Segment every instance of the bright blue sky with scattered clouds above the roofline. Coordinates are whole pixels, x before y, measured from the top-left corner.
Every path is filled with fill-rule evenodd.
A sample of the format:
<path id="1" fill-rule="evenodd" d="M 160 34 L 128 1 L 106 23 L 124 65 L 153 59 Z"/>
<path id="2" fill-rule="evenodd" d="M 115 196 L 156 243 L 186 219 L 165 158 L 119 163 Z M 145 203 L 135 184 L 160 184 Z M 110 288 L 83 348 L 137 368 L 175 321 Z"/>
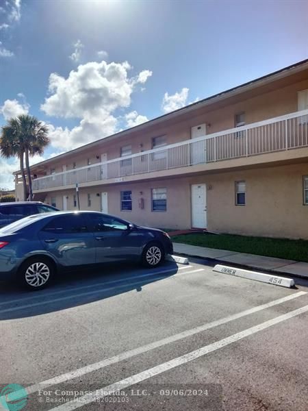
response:
<path id="1" fill-rule="evenodd" d="M 308 0 L 0 0 L 0 127 L 47 123 L 35 164 L 306 58 Z"/>

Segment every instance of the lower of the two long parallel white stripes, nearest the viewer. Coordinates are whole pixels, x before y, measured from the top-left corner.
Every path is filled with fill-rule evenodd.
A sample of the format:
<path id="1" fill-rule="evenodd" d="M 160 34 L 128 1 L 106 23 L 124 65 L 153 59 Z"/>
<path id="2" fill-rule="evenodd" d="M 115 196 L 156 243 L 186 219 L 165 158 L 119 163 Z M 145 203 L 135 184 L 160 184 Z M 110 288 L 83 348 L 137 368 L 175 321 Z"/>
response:
<path id="1" fill-rule="evenodd" d="M 124 388 L 132 386 L 133 384 L 138 384 L 138 382 L 142 382 L 145 379 L 149 379 L 151 377 L 154 377 L 155 375 L 165 373 L 166 371 L 174 369 L 175 367 L 186 364 L 190 361 L 196 360 L 196 358 L 203 357 L 207 355 L 208 353 L 216 351 L 217 349 L 220 349 L 222 347 L 227 347 L 227 345 L 235 343 L 238 340 L 242 340 L 242 338 L 252 336 L 253 334 L 260 332 L 263 329 L 272 327 L 273 325 L 277 325 L 281 323 L 282 321 L 292 319 L 294 316 L 298 316 L 300 314 L 303 314 L 304 312 L 308 312 L 308 306 L 298 308 L 297 310 L 294 310 L 291 312 L 287 312 L 287 314 L 283 314 L 274 319 L 265 321 L 264 323 L 255 325 L 255 327 L 250 327 L 250 328 L 244 329 L 244 331 L 233 334 L 232 336 L 229 336 L 227 338 L 222 338 L 222 340 L 216 341 L 216 343 L 205 345 L 204 347 L 196 349 L 195 351 L 191 351 L 190 353 L 187 353 L 184 356 L 174 358 L 173 360 L 170 360 L 167 362 L 163 362 L 162 364 L 153 366 L 153 368 L 151 369 L 147 369 L 145 371 L 142 371 L 141 373 L 132 375 L 131 377 L 121 379 L 120 381 L 115 382 L 114 384 L 105 386 L 97 390 L 92 395 L 84 395 L 82 397 L 78 397 L 78 402 L 70 401 L 68 403 L 64 403 L 61 406 L 52 408 L 50 411 L 76 410 L 77 408 L 85 406 L 88 403 L 92 403 L 93 401 L 97 399 L 106 397 L 107 395 L 111 395 L 116 390 L 123 390 Z"/>

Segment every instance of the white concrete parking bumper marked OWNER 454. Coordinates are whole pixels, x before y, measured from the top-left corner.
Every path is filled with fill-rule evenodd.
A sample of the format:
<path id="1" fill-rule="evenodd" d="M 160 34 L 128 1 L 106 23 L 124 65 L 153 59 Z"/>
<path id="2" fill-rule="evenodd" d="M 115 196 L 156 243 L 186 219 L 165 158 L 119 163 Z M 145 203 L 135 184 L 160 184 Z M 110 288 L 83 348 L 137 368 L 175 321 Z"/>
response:
<path id="1" fill-rule="evenodd" d="M 259 273 L 258 271 L 243 270 L 236 267 L 224 266 L 220 264 L 216 264 L 213 271 L 217 271 L 218 273 L 223 274 L 235 275 L 235 277 L 254 279 L 255 281 L 265 282 L 267 284 L 273 284 L 275 286 L 287 288 L 294 286 L 294 279 L 292 278 L 278 277 L 277 275 Z"/>

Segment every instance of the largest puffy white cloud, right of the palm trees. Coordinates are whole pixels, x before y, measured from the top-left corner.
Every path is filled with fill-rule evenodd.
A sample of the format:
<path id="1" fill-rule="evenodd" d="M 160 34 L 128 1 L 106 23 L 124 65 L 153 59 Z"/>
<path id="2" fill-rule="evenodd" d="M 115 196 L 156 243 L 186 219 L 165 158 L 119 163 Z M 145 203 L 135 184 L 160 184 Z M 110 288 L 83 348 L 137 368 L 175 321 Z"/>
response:
<path id="1" fill-rule="evenodd" d="M 73 149 L 114 134 L 118 120 L 113 113 L 129 107 L 136 85 L 149 77 L 142 75 L 143 72 L 129 77 L 130 69 L 128 62 L 107 64 L 102 61 L 80 64 L 67 78 L 51 73 L 51 95 L 45 99 L 41 110 L 49 116 L 81 120 L 73 129 L 51 125 L 51 145 L 57 149 Z M 135 118 L 129 117 L 127 122 L 140 124 L 146 120 L 136 113 Z"/>

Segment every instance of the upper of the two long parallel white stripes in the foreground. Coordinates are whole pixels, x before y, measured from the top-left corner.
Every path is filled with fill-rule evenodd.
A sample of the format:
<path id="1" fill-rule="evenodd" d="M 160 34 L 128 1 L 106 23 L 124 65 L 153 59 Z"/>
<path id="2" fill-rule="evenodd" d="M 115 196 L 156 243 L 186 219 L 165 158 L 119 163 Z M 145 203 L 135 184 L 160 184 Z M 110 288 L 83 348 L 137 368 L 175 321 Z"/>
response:
<path id="1" fill-rule="evenodd" d="M 151 351 L 152 349 L 163 347 L 164 345 L 168 345 L 170 343 L 175 343 L 175 341 L 182 340 L 183 338 L 193 336 L 194 334 L 198 334 L 199 332 L 203 332 L 207 329 L 217 327 L 218 325 L 226 324 L 226 323 L 229 323 L 230 321 L 240 319 L 243 316 L 247 316 L 249 314 L 253 314 L 255 312 L 265 310 L 266 308 L 277 306 L 278 304 L 285 303 L 286 301 L 290 301 L 298 297 L 302 297 L 303 295 L 307 295 L 307 292 L 305 291 L 296 292 L 294 294 L 287 295 L 286 297 L 282 297 L 277 300 L 270 301 L 269 303 L 262 304 L 261 306 L 249 308 L 248 310 L 244 310 L 242 312 L 238 312 L 237 314 L 232 314 L 222 319 L 212 321 L 211 323 L 205 323 L 203 325 L 200 325 L 199 327 L 188 329 L 184 332 L 180 332 L 179 334 L 175 334 L 173 336 L 163 338 L 162 340 L 157 340 L 153 343 L 143 345 L 142 347 L 138 347 L 136 349 L 125 351 L 124 353 L 120 353 L 117 356 L 106 358 L 105 360 L 81 367 L 80 369 L 77 369 L 75 371 L 70 371 L 68 373 L 58 375 L 57 377 L 47 379 L 41 382 L 40 384 L 34 384 L 32 386 L 28 386 L 27 392 L 31 394 L 31 393 L 35 393 L 40 388 L 52 386 L 55 384 L 60 384 L 62 382 L 67 382 L 70 379 L 81 377 L 81 375 L 85 375 L 88 373 L 92 373 L 93 371 L 103 369 L 105 366 L 116 364 L 117 362 L 127 360 L 128 358 L 138 356 L 139 354 L 146 353 L 147 351 Z"/>

